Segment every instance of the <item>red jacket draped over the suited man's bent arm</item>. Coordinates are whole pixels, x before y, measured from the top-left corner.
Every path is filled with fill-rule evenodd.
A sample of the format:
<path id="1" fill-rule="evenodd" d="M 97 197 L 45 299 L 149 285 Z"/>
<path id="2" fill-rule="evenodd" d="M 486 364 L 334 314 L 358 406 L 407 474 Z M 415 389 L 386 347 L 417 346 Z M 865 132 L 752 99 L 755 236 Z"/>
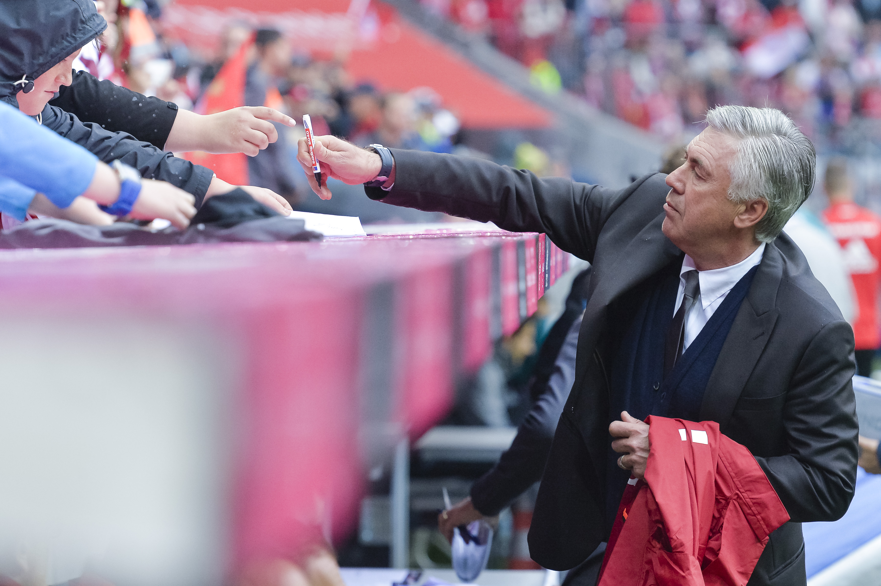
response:
<path id="1" fill-rule="evenodd" d="M 631 479 L 621 499 L 599 585 L 742 586 L 768 535 L 789 520 L 783 503 L 718 423 L 647 422 L 645 481 Z"/>

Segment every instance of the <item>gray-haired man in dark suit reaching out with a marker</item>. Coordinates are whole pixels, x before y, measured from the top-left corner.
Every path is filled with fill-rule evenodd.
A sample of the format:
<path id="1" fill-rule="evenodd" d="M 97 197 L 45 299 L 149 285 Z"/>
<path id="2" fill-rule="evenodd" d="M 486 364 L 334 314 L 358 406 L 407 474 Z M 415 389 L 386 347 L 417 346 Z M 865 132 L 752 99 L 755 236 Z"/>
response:
<path id="1" fill-rule="evenodd" d="M 575 382 L 529 530 L 534 560 L 574 568 L 608 538 L 627 479 L 645 473 L 641 420 L 652 414 L 717 421 L 751 451 L 791 521 L 750 584 L 806 583 L 801 524 L 840 518 L 854 494 L 854 333 L 782 232 L 811 194 L 816 159 L 785 114 L 715 107 L 682 166 L 620 190 L 478 158 L 315 143 L 322 172 L 366 182 L 371 199 L 544 232 L 592 264 Z M 303 141 L 298 158 L 328 199 Z"/>

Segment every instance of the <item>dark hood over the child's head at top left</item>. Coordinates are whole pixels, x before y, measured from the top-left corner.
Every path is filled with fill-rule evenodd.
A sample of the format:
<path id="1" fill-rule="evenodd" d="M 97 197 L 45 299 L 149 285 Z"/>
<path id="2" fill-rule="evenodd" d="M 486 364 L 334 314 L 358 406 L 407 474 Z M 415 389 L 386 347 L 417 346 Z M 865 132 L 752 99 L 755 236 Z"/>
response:
<path id="1" fill-rule="evenodd" d="M 0 0 L 0 99 L 18 107 L 23 86 L 106 28 L 92 0 Z"/>

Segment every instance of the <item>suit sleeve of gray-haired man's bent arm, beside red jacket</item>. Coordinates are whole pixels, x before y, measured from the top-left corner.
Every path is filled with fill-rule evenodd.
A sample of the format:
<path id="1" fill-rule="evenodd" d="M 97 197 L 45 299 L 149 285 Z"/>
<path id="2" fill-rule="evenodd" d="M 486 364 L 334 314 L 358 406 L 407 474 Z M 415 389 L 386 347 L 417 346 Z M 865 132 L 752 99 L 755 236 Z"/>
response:
<path id="1" fill-rule="evenodd" d="M 854 495 L 856 405 L 854 335 L 843 320 L 817 333 L 783 407 L 790 453 L 756 458 L 792 521 L 835 521 Z"/>

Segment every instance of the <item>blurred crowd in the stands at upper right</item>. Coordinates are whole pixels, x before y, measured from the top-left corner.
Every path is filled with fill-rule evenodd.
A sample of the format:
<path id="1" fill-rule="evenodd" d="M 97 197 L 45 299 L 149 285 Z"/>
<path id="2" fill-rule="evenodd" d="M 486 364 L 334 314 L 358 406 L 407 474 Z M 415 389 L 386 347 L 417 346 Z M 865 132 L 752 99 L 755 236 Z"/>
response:
<path id="1" fill-rule="evenodd" d="M 877 0 L 420 0 L 565 89 L 665 139 L 717 104 L 775 106 L 823 148 L 877 138 Z"/>

